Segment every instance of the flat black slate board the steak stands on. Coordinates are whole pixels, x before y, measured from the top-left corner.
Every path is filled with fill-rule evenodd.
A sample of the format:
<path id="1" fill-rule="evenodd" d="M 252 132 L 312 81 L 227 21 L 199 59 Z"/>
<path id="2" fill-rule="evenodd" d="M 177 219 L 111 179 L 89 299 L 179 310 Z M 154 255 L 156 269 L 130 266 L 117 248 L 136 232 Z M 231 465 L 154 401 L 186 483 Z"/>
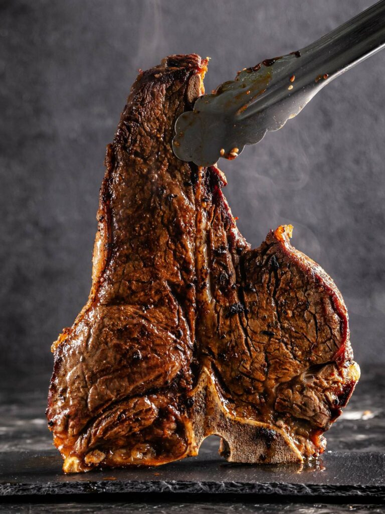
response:
<path id="1" fill-rule="evenodd" d="M 255 493 L 323 497 L 371 495 L 385 499 L 385 454 L 332 452 L 325 455 L 321 466 L 306 466 L 301 470 L 297 466 L 226 463 L 215 455 L 218 441 L 207 443 L 200 456 L 161 468 L 71 475 L 60 472 L 61 458 L 52 452 L 7 453 L 2 459 L 0 493 Z"/>

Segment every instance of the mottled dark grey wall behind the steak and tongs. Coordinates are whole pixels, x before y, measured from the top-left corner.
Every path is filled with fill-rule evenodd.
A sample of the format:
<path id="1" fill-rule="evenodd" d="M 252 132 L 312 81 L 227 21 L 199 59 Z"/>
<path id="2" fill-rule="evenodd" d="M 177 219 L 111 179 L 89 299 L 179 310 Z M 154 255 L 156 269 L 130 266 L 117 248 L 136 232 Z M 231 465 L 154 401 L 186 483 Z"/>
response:
<path id="1" fill-rule="evenodd" d="M 197 52 L 210 90 L 371 3 L 0 1 L 0 371 L 50 370 L 51 342 L 87 299 L 105 145 L 138 68 Z M 294 246 L 334 278 L 359 362 L 385 360 L 384 65 L 382 52 L 220 161 L 247 239 L 292 223 Z"/>

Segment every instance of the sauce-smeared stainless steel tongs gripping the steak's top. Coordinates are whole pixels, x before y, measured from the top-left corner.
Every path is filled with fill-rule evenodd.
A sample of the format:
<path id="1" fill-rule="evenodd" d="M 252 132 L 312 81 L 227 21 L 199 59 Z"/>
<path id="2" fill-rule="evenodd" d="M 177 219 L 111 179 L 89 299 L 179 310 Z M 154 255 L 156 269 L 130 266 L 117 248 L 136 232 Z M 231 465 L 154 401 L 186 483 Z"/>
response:
<path id="1" fill-rule="evenodd" d="M 240 71 L 234 81 L 203 95 L 175 125 L 177 157 L 211 166 L 233 159 L 294 118 L 316 93 L 385 46 L 381 0 L 301 50 Z"/>

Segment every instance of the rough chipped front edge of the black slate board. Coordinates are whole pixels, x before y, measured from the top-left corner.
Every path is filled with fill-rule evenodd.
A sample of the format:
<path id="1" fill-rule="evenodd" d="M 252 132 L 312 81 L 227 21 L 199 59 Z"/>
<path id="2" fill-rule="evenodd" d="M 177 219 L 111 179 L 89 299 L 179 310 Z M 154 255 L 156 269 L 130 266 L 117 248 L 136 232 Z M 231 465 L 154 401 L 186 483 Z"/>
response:
<path id="1" fill-rule="evenodd" d="M 0 483 L 0 496 L 89 493 L 278 494 L 282 496 L 372 497 L 385 500 L 385 486 L 187 481 Z"/>

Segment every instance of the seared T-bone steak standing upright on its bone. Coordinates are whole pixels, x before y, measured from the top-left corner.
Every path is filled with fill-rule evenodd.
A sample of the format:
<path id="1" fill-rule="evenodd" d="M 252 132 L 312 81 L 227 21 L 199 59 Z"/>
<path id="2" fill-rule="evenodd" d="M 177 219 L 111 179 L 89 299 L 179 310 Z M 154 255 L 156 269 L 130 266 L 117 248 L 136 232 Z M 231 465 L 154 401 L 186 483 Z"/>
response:
<path id="1" fill-rule="evenodd" d="M 141 72 L 107 147 L 90 296 L 52 347 L 65 472 L 157 466 L 210 434 L 228 461 L 300 463 L 359 378 L 340 292 L 292 227 L 252 250 L 223 173 L 172 152 L 206 66 L 192 54 Z"/>

